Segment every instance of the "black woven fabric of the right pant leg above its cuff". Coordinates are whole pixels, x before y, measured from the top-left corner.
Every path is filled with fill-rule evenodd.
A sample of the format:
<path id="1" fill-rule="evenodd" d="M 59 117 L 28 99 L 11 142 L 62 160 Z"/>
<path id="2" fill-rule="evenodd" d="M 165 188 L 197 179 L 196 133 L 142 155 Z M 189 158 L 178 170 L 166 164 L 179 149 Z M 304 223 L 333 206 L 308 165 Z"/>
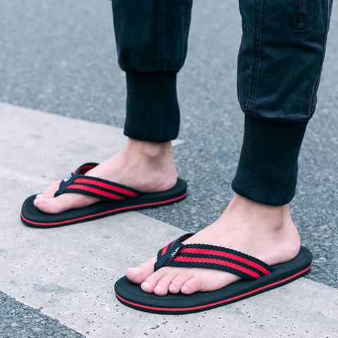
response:
<path id="1" fill-rule="evenodd" d="M 332 0 L 239 0 L 244 113 L 293 122 L 315 111 Z"/>

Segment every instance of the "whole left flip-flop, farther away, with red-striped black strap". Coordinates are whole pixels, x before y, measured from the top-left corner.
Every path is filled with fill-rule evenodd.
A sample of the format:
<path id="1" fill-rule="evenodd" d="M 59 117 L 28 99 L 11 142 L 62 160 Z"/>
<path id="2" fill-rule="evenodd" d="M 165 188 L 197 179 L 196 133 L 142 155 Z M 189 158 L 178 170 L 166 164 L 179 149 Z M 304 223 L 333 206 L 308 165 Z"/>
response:
<path id="1" fill-rule="evenodd" d="M 21 219 L 30 227 L 62 227 L 74 223 L 96 220 L 115 213 L 165 206 L 181 201 L 187 195 L 187 182 L 177 178 L 175 187 L 165 192 L 143 194 L 122 184 L 101 180 L 100 178 L 84 175 L 94 168 L 97 163 L 85 163 L 65 177 L 55 196 L 67 192 L 76 192 L 94 196 L 101 201 L 85 208 L 71 209 L 51 215 L 39 211 L 33 204 L 35 196 L 28 197 L 23 203 Z"/>

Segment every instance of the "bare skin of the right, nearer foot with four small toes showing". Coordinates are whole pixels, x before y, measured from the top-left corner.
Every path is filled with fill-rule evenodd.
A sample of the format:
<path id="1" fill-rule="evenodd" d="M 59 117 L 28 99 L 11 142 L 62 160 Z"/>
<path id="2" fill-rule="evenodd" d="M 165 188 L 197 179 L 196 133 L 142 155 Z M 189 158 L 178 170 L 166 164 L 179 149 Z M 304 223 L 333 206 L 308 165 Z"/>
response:
<path id="1" fill-rule="evenodd" d="M 300 248 L 299 234 L 292 222 L 289 205 L 265 206 L 238 194 L 221 217 L 209 227 L 187 239 L 185 244 L 213 244 L 241 251 L 269 265 L 284 263 L 296 257 Z M 161 249 L 161 248 L 158 248 Z M 215 291 L 240 278 L 231 273 L 204 268 L 166 266 L 154 273 L 156 257 L 126 275 L 141 284 L 144 292 L 164 296 L 168 292 L 192 294 Z"/>

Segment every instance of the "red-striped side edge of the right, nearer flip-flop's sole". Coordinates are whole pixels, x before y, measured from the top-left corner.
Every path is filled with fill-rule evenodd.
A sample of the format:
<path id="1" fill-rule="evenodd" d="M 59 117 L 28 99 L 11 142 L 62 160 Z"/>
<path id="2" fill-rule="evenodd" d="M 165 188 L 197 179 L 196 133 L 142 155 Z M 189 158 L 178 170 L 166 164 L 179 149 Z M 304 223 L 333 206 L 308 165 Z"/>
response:
<path id="1" fill-rule="evenodd" d="M 240 294 L 239 296 L 234 296 L 230 299 L 224 299 L 223 301 L 217 301 L 215 303 L 210 303 L 208 305 L 202 305 L 202 306 L 195 306 L 195 307 L 192 307 L 192 308 L 155 308 L 155 307 L 152 307 L 152 306 L 145 306 L 145 305 L 140 305 L 140 304 L 137 304 L 137 303 L 132 303 L 131 301 L 126 301 L 125 299 L 123 299 L 122 297 L 118 296 L 118 294 L 116 294 L 115 292 L 115 296 L 118 297 L 118 299 L 120 299 L 121 301 L 123 301 L 123 303 L 128 303 L 132 306 L 137 306 L 139 308 L 148 308 L 149 310 L 157 310 L 157 311 L 194 311 L 194 310 L 200 310 L 200 309 L 204 309 L 204 308 L 209 308 L 211 306 L 217 306 L 217 305 L 220 305 L 220 304 L 223 304 L 223 303 L 228 303 L 229 301 L 234 301 L 236 299 L 241 299 L 241 298 L 244 298 L 245 296 L 249 296 L 250 294 L 255 294 L 256 292 L 260 292 L 264 289 L 268 289 L 269 287 L 274 287 L 275 285 L 278 285 L 278 284 L 282 284 L 283 282 L 287 282 L 288 280 L 292 280 L 293 278 L 303 274 L 303 273 L 306 273 L 306 271 L 310 270 L 311 268 L 311 265 L 304 269 L 303 271 L 301 271 L 300 273 L 296 273 L 295 275 L 292 275 L 291 277 L 287 277 L 285 278 L 284 280 L 280 280 L 279 282 L 275 282 L 273 284 L 269 284 L 269 285 L 265 285 L 265 287 L 260 287 L 256 290 L 253 290 L 251 292 L 246 292 L 245 294 Z"/>

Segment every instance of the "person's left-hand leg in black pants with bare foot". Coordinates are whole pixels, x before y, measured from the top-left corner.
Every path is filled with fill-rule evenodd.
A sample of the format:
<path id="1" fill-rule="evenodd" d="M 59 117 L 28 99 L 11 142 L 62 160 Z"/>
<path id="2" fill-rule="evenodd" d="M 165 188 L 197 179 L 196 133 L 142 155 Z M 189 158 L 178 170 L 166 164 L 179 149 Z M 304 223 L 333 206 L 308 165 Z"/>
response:
<path id="1" fill-rule="evenodd" d="M 127 74 L 126 148 L 86 175 L 161 192 L 177 181 L 171 140 L 178 134 L 176 74 L 187 54 L 191 0 L 113 0 L 118 62 Z M 175 32 L 175 34 L 173 33 Z M 54 198 L 60 181 L 37 195 L 45 213 L 83 208 L 98 199 L 82 194 Z"/>

